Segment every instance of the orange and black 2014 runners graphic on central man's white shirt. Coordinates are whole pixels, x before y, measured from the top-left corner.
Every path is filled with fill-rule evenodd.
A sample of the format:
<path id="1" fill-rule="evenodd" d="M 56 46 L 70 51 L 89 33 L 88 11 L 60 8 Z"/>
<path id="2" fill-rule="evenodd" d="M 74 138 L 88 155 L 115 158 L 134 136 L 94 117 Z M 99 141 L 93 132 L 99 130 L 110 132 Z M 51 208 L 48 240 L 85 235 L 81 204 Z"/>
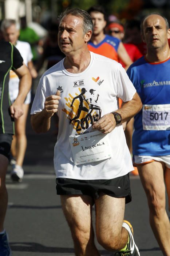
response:
<path id="1" fill-rule="evenodd" d="M 99 99 L 96 90 L 90 89 L 89 92 L 85 88 L 78 88 L 78 90 L 75 97 L 69 93 L 69 97 L 65 98 L 67 108 L 62 110 L 70 119 L 70 125 L 73 125 L 76 132 L 80 134 L 82 130 L 88 129 L 89 124 L 92 125 L 99 120 L 102 110 L 100 106 L 95 105 Z"/>

